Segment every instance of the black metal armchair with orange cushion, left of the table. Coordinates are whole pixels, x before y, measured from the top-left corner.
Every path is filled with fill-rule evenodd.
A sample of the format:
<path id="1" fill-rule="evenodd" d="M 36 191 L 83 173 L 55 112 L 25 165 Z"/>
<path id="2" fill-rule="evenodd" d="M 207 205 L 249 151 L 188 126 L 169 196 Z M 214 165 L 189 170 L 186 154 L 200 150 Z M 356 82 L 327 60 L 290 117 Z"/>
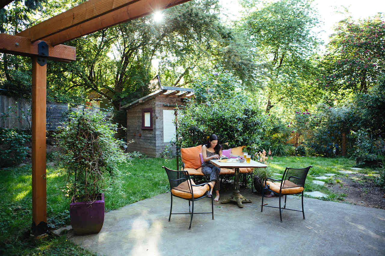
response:
<path id="1" fill-rule="evenodd" d="M 209 196 L 212 185 L 211 183 L 202 183 L 196 185 L 193 180 L 191 180 L 190 175 L 187 171 L 174 171 L 169 168 L 162 166 L 166 170 L 171 189 L 171 206 L 170 206 L 170 215 L 169 221 L 171 219 L 171 214 L 190 214 L 190 226 L 192 223 L 192 217 L 194 215 L 194 201 L 197 201 L 201 198 Z M 189 212 L 188 213 L 172 213 L 172 196 L 176 196 L 189 201 Z M 192 202 L 192 208 L 190 207 Z M 211 213 L 214 219 L 214 197 L 211 196 Z M 199 214 L 199 213 L 195 213 Z"/>

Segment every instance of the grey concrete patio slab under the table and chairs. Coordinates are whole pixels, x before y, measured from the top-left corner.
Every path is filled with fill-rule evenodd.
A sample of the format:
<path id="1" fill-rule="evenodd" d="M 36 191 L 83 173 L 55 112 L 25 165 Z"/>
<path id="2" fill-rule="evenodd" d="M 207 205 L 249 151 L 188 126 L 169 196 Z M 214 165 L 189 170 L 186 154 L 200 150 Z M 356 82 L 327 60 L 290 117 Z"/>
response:
<path id="1" fill-rule="evenodd" d="M 225 198 L 231 192 L 222 193 Z M 98 255 L 384 255 L 385 211 L 352 204 L 303 198 L 301 212 L 264 207 L 261 196 L 241 193 L 253 203 L 214 203 L 211 214 L 172 215 L 170 194 L 160 194 L 105 214 L 99 234 L 70 240 Z M 108 196 L 108 195 L 107 195 Z M 282 199 L 283 202 L 284 199 Z M 264 198 L 278 206 L 278 197 Z M 286 207 L 301 209 L 301 199 L 288 197 Z M 210 211 L 211 200 L 196 201 L 194 211 Z M 174 198 L 173 211 L 188 211 L 185 200 Z M 285 249 L 279 249 L 285 248 Z"/>

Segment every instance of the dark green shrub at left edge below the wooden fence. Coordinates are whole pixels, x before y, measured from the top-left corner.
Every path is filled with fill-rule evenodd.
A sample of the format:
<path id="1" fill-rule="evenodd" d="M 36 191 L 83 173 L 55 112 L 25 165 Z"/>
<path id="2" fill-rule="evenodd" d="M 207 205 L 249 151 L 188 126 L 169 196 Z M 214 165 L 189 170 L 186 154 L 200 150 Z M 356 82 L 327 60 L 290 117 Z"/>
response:
<path id="1" fill-rule="evenodd" d="M 30 138 L 21 131 L 0 128 L 0 167 L 14 166 L 24 160 L 28 149 L 24 143 Z"/>

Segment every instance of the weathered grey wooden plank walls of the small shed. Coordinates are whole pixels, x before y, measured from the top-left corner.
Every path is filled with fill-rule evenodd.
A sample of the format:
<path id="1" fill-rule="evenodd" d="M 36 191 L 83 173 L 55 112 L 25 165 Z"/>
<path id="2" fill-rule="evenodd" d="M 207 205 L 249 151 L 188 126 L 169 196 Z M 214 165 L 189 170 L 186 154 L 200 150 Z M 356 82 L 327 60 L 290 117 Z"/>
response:
<path id="1" fill-rule="evenodd" d="M 163 110 L 173 110 L 169 105 L 182 105 L 176 95 L 158 95 L 156 98 L 127 110 L 127 141 L 134 140 L 127 146 L 128 152 L 139 151 L 151 157 L 159 157 L 169 143 L 163 143 Z M 142 108 L 152 108 L 153 130 L 142 130 Z M 139 136 L 141 134 L 141 136 Z M 176 151 L 175 146 L 172 151 Z"/>

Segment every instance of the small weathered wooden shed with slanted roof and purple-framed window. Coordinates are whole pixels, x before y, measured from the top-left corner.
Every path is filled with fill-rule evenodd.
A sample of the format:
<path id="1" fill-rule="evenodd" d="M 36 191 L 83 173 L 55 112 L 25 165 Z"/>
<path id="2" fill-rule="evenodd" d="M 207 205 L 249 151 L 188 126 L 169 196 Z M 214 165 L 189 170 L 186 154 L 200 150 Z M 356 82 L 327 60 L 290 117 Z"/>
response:
<path id="1" fill-rule="evenodd" d="M 123 106 L 127 110 L 127 152 L 139 151 L 159 157 L 172 139 L 175 140 L 176 106 L 194 95 L 191 88 L 160 86 L 160 89 Z M 172 148 L 175 152 L 175 146 Z"/>

